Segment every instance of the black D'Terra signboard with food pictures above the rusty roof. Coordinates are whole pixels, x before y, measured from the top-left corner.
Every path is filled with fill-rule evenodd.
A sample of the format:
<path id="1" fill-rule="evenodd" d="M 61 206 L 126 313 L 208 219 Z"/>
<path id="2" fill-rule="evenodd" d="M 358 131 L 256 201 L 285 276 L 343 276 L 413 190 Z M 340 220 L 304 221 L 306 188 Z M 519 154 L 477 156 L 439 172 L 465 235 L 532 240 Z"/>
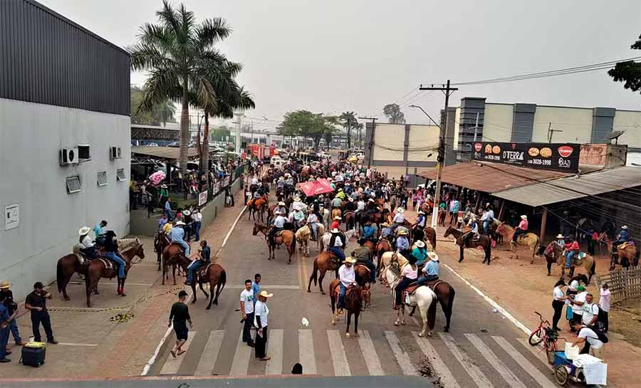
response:
<path id="1" fill-rule="evenodd" d="M 578 144 L 474 142 L 472 148 L 474 160 L 534 169 L 578 172 Z"/>

